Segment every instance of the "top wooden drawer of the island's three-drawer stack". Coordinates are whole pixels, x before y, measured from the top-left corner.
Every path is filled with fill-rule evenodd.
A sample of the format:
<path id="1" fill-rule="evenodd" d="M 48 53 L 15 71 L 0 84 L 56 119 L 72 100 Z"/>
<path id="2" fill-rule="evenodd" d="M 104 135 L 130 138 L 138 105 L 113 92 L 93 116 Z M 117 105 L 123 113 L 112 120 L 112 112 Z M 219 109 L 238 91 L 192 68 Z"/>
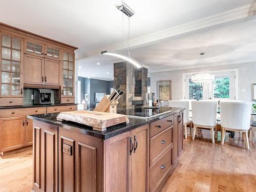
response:
<path id="1" fill-rule="evenodd" d="M 174 124 L 174 116 L 170 115 L 153 123 L 150 123 L 150 137 L 160 133 Z"/>

